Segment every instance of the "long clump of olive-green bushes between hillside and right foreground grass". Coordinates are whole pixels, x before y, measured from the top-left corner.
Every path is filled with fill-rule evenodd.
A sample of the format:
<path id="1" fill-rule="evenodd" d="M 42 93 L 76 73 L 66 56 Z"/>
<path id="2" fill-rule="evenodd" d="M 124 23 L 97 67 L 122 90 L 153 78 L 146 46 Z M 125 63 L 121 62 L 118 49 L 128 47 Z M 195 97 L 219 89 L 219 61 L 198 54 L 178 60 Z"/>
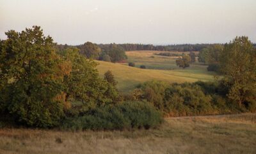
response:
<path id="1" fill-rule="evenodd" d="M 148 81 L 131 92 L 131 100 L 147 101 L 166 116 L 214 115 L 255 111 L 255 104 L 239 108 L 227 98 L 228 85 L 220 82 L 165 83 Z"/>

